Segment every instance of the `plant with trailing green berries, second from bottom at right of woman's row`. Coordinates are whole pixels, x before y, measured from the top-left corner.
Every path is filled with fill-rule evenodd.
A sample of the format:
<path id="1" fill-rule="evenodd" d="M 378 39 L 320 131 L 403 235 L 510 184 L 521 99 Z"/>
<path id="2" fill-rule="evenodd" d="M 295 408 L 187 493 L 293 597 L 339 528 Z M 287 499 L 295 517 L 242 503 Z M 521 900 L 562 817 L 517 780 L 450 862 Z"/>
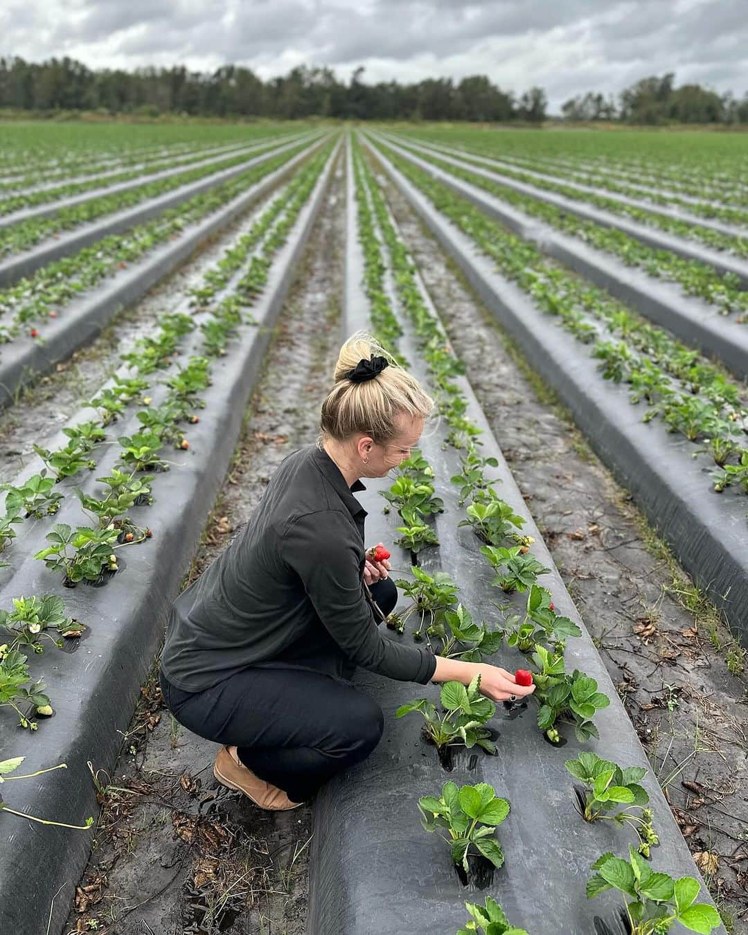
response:
<path id="1" fill-rule="evenodd" d="M 650 848 L 659 842 L 652 824 L 654 813 L 649 795 L 640 784 L 647 770 L 642 767 L 621 767 L 597 754 L 584 751 L 576 759 L 569 759 L 566 768 L 583 786 L 574 786 L 576 809 L 584 821 L 607 820 L 617 825 L 629 825 L 639 838 L 639 853 L 649 857 Z M 619 805 L 626 808 L 618 810 Z M 606 814 L 617 810 L 612 814 Z M 639 815 L 634 812 L 640 812 Z"/>

